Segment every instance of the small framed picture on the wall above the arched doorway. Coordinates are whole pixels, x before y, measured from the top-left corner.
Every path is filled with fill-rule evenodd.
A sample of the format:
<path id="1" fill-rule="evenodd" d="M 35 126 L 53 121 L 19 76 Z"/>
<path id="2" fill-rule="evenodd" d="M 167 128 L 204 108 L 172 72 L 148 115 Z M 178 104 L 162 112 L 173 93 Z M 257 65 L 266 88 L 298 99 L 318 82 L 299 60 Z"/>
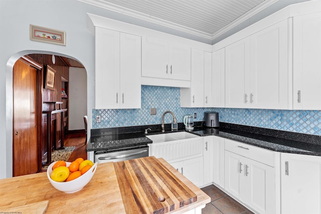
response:
<path id="1" fill-rule="evenodd" d="M 30 25 L 30 40 L 66 46 L 66 33 L 50 28 Z"/>

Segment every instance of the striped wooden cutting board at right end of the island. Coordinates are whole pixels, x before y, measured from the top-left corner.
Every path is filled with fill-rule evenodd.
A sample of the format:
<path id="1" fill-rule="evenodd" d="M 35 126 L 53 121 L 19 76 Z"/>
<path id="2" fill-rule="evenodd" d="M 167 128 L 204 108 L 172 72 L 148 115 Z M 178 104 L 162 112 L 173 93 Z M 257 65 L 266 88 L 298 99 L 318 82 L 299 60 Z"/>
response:
<path id="1" fill-rule="evenodd" d="M 197 201 L 197 195 L 155 157 L 114 162 L 127 214 L 166 213 Z"/>

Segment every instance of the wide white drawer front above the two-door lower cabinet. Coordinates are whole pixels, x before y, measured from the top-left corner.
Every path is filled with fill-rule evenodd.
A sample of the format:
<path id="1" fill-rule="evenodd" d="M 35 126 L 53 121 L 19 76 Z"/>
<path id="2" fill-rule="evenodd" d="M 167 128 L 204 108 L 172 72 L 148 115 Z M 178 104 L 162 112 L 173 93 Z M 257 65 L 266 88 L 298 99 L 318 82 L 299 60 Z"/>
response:
<path id="1" fill-rule="evenodd" d="M 229 139 L 225 139 L 225 150 L 274 167 L 273 151 Z"/>

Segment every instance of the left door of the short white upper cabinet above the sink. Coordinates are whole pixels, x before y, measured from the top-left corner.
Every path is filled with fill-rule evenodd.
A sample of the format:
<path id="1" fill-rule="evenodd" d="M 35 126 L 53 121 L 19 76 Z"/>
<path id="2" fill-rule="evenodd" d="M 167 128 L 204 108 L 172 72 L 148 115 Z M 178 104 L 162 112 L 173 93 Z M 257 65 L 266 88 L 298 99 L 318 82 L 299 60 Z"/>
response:
<path id="1" fill-rule="evenodd" d="M 168 78 L 168 43 L 153 38 L 144 38 L 142 43 L 141 76 Z"/>

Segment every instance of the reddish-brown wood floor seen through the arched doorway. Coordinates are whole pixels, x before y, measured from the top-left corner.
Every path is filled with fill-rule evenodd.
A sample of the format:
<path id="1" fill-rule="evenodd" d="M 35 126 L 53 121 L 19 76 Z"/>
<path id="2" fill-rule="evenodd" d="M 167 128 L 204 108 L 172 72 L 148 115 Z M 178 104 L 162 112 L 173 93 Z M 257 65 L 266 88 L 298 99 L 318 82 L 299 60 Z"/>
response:
<path id="1" fill-rule="evenodd" d="M 65 146 L 76 146 L 73 153 L 70 155 L 68 161 L 72 162 L 78 157 L 87 159 L 87 144 L 85 145 L 86 135 L 85 134 L 68 134 L 64 140 Z"/>

